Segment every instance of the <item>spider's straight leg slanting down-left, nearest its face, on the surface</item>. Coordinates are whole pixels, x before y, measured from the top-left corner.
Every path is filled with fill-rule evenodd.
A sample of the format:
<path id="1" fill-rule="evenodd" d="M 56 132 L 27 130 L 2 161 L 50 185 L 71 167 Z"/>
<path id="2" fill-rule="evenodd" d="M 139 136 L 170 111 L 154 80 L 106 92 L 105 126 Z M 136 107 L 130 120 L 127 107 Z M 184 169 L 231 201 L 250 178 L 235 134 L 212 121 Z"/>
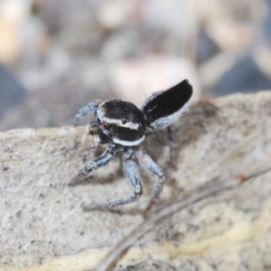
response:
<path id="1" fill-rule="evenodd" d="M 115 144 L 108 145 L 107 149 L 101 154 L 97 159 L 93 160 L 89 164 L 86 164 L 82 169 L 75 174 L 69 182 L 69 185 L 75 185 L 80 180 L 84 179 L 92 170 L 96 170 L 101 166 L 104 166 L 109 163 L 111 158 L 120 151 L 120 148 L 117 148 Z"/>

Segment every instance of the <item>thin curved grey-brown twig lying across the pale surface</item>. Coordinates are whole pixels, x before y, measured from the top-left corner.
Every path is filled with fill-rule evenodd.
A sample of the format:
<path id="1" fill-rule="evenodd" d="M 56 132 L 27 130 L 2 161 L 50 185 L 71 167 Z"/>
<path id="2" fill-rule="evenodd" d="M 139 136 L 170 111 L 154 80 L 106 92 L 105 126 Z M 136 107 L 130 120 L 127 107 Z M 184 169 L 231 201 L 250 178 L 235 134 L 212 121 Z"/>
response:
<path id="1" fill-rule="evenodd" d="M 184 192 L 182 195 L 177 198 L 175 201 L 170 202 L 164 205 L 163 208 L 156 210 L 152 217 L 147 218 L 142 224 L 140 224 L 136 229 L 132 230 L 125 238 L 123 238 L 105 257 L 100 261 L 98 266 L 96 266 L 95 271 L 111 271 L 115 266 L 117 266 L 117 262 L 126 255 L 128 249 L 133 246 L 135 241 L 138 238 L 141 238 L 151 229 L 164 220 L 173 216 L 179 210 L 184 209 L 187 206 L 192 205 L 195 202 L 204 200 L 210 196 L 214 196 L 218 192 L 222 192 L 225 190 L 232 190 L 244 181 L 248 181 L 256 178 L 259 175 L 265 174 L 271 171 L 271 167 L 266 168 L 263 171 L 253 173 L 248 175 L 246 180 L 220 180 L 219 177 L 210 180 L 209 182 L 205 182 L 202 185 L 199 185 L 193 188 L 189 192 Z"/>

